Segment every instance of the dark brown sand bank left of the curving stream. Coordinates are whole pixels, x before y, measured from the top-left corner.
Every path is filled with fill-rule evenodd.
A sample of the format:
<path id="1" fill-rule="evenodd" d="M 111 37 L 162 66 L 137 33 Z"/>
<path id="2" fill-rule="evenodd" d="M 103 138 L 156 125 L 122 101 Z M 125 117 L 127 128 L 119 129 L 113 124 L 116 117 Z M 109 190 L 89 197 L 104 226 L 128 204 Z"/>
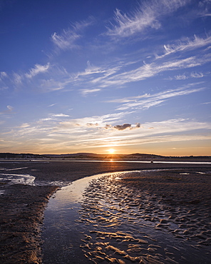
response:
<path id="1" fill-rule="evenodd" d="M 43 210 L 56 186 L 8 186 L 0 196 L 0 262 L 41 263 Z"/>

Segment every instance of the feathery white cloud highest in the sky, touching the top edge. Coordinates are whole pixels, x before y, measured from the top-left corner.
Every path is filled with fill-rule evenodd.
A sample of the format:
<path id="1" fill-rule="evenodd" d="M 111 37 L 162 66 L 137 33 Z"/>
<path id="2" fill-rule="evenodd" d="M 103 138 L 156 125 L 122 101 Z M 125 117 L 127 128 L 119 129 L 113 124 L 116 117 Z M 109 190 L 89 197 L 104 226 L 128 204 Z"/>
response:
<path id="1" fill-rule="evenodd" d="M 181 6 L 185 6 L 188 0 L 154 0 L 142 1 L 140 6 L 132 14 L 123 14 L 120 10 L 115 11 L 115 24 L 108 28 L 107 34 L 119 38 L 132 36 L 146 29 L 159 29 L 160 18 L 171 14 Z"/>

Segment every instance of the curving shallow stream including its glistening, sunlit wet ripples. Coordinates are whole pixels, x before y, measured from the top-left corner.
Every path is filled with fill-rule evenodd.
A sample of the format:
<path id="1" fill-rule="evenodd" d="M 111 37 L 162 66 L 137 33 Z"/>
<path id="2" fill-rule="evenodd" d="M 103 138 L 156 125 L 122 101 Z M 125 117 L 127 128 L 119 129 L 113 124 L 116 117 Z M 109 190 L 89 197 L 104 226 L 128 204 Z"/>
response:
<path id="1" fill-rule="evenodd" d="M 139 172 L 83 178 L 50 199 L 43 263 L 209 263 L 206 249 L 175 237 L 178 226 L 151 193 L 121 186 L 128 173 Z"/>

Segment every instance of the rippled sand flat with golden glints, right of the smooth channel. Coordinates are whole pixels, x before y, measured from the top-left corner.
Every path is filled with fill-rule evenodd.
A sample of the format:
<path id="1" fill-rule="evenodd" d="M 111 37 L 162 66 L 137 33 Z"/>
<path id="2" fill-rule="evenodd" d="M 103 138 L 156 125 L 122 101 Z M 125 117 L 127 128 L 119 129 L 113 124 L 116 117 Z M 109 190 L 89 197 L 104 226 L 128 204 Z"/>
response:
<path id="1" fill-rule="evenodd" d="M 92 263 L 210 263 L 210 182 L 206 169 L 92 181 L 78 220 L 87 225 L 84 255 Z"/>

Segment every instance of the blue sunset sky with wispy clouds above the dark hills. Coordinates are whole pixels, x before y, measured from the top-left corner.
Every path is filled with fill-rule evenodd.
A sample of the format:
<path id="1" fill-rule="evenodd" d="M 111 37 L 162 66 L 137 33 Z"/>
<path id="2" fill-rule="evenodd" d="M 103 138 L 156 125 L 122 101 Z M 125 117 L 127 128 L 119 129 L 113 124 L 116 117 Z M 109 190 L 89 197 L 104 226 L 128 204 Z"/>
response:
<path id="1" fill-rule="evenodd" d="M 211 155 L 211 0 L 0 0 L 0 152 Z"/>

